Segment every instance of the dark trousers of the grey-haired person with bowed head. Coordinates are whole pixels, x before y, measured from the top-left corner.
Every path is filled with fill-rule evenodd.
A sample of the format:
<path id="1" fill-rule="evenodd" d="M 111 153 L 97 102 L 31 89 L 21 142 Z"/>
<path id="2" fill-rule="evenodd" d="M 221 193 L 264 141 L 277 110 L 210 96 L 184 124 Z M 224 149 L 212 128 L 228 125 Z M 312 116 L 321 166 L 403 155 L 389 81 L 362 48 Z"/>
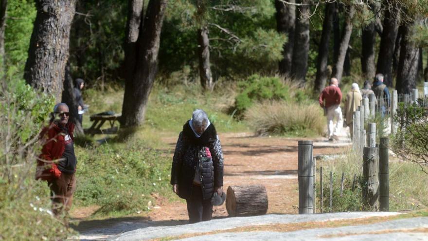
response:
<path id="1" fill-rule="evenodd" d="M 190 223 L 211 220 L 213 204 L 211 204 L 211 199 L 203 200 L 200 186 L 193 185 L 192 195 L 189 199 L 186 199 L 186 202 Z"/>

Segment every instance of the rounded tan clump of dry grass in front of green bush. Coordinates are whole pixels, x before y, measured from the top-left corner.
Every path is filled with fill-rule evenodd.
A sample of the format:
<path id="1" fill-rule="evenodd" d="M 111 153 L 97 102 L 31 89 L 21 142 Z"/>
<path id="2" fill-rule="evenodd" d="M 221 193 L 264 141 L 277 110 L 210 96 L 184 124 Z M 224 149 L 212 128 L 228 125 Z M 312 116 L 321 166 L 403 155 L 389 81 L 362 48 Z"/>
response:
<path id="1" fill-rule="evenodd" d="M 321 108 L 316 104 L 285 101 L 258 103 L 246 112 L 245 118 L 259 135 L 320 135 L 325 128 Z"/>

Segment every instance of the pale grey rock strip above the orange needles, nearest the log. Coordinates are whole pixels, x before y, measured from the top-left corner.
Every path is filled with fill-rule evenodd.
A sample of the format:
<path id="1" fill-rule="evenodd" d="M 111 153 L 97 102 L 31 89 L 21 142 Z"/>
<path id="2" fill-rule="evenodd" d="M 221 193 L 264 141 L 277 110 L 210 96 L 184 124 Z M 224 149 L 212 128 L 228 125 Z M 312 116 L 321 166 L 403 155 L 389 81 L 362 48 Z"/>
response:
<path id="1" fill-rule="evenodd" d="M 253 217 L 236 217 L 226 219 L 216 219 L 209 222 L 199 222 L 194 224 L 185 224 L 177 226 L 143 226 L 133 231 L 122 233 L 116 237 L 111 237 L 109 240 L 114 241 L 141 241 L 150 240 L 155 238 L 164 238 L 171 236 L 178 236 L 183 234 L 192 233 L 203 233 L 217 230 L 227 230 L 236 227 L 245 227 L 252 225 L 265 225 L 265 224 L 284 224 L 284 223 L 299 223 L 299 222 L 325 222 L 325 221 L 338 221 L 338 220 L 349 220 L 349 219 L 361 219 L 370 217 L 385 217 L 397 215 L 399 213 L 393 212 L 346 212 L 346 213 L 324 213 L 316 215 L 287 215 L 287 214 L 268 214 L 262 216 Z M 428 223 L 428 222 L 427 222 Z M 272 233 L 275 232 L 260 232 L 260 233 Z M 245 235 L 246 233 L 239 233 L 236 235 Z M 278 233 L 280 234 L 280 233 Z M 282 233 L 283 234 L 283 233 Z M 216 237 L 223 237 L 224 235 L 235 235 L 235 234 L 217 234 Z M 249 235 L 251 236 L 251 235 Z M 205 237 L 205 236 L 204 236 Z M 222 240 L 229 240 L 229 236 L 224 236 Z M 80 236 L 81 239 L 85 239 L 85 235 Z M 89 238 L 89 237 L 88 237 Z M 201 237 L 197 237 L 199 240 Z M 216 238 L 217 239 L 217 238 Z M 244 240 L 247 237 L 237 237 L 235 240 Z M 204 240 L 213 240 L 213 237 L 206 236 Z M 252 240 L 264 240 L 264 238 L 252 239 Z"/>

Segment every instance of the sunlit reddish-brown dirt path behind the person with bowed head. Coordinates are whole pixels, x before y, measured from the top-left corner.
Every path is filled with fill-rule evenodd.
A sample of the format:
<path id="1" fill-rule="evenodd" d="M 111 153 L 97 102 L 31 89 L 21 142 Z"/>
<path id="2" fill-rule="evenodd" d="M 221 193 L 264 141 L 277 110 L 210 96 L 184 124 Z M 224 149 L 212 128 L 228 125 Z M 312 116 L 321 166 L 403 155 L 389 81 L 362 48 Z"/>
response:
<path id="1" fill-rule="evenodd" d="M 267 189 L 267 213 L 296 214 L 298 212 L 297 141 L 302 138 L 254 137 L 250 133 L 220 134 L 225 167 L 224 190 L 229 185 L 265 185 Z M 177 137 L 163 137 L 171 149 Z M 337 154 L 348 147 L 345 141 L 331 143 L 316 138 L 314 156 Z M 158 199 L 157 209 L 149 220 L 187 220 L 184 202 L 168 203 Z M 214 207 L 214 217 L 227 217 L 226 206 Z"/>

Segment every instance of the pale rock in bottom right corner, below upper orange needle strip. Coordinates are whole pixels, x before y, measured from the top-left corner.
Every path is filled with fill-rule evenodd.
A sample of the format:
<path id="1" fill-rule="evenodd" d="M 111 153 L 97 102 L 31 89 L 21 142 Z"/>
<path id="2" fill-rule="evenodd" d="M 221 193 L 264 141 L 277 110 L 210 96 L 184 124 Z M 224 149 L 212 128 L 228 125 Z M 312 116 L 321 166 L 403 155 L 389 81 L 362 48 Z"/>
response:
<path id="1" fill-rule="evenodd" d="M 428 241 L 428 217 L 294 232 L 242 232 L 197 236 L 182 241 Z"/>

